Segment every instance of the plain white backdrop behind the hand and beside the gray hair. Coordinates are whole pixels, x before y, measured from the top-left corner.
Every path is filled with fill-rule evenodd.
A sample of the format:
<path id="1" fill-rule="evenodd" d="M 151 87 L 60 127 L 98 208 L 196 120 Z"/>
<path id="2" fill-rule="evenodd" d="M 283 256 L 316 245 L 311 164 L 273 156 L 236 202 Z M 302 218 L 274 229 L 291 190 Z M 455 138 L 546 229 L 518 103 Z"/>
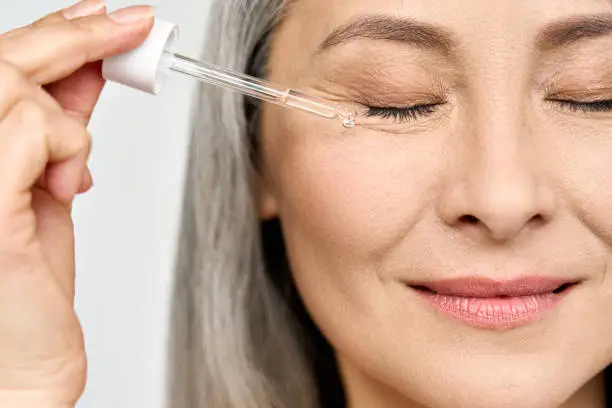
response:
<path id="1" fill-rule="evenodd" d="M 211 0 L 153 0 L 179 24 L 178 50 L 198 57 Z M 0 33 L 66 7 L 1 0 Z M 110 10 L 135 4 L 108 0 Z M 79 408 L 159 407 L 165 398 L 169 295 L 194 83 L 160 96 L 109 84 L 90 130 L 93 190 L 75 206 L 77 312 L 89 356 Z"/>

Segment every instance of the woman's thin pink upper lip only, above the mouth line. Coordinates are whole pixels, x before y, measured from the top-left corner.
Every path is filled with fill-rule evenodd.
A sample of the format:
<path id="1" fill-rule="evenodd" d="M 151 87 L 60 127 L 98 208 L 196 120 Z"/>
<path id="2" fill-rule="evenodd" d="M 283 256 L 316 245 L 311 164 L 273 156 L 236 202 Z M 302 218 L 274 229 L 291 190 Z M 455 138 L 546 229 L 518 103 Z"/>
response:
<path id="1" fill-rule="evenodd" d="M 497 280 L 488 277 L 461 277 L 436 281 L 408 282 L 416 289 L 429 289 L 440 295 L 457 297 L 518 297 L 562 291 L 578 280 L 522 276 Z"/>

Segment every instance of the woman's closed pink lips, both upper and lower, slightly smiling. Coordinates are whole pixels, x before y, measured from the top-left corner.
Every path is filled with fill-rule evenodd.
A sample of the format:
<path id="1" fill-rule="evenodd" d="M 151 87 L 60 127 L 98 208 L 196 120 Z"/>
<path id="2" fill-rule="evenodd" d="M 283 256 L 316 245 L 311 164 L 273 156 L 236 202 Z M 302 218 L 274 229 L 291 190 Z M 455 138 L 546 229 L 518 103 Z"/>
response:
<path id="1" fill-rule="evenodd" d="M 471 326 L 509 329 L 533 322 L 578 283 L 545 277 L 468 277 L 408 285 L 442 313 Z"/>

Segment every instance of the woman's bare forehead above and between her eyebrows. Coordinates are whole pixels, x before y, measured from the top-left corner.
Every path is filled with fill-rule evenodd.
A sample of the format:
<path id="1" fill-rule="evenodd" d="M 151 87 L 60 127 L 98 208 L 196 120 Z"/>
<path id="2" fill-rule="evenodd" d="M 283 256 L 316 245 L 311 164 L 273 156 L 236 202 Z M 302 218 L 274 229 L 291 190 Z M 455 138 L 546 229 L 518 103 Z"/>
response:
<path id="1" fill-rule="evenodd" d="M 552 21 L 610 11 L 612 0 L 288 0 L 277 38 L 296 54 L 314 52 L 338 27 L 378 15 L 442 27 L 469 47 L 501 37 L 528 41 Z"/>

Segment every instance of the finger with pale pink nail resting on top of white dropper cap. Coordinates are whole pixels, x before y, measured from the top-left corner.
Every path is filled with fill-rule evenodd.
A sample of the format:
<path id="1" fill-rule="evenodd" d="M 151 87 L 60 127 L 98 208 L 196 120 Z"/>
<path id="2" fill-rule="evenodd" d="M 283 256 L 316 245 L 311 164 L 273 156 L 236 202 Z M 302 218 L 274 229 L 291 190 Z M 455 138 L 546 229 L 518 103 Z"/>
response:
<path id="1" fill-rule="evenodd" d="M 32 27 L 0 39 L 0 59 L 45 85 L 64 78 L 89 62 L 136 48 L 153 27 L 154 9 L 132 6 Z"/>

